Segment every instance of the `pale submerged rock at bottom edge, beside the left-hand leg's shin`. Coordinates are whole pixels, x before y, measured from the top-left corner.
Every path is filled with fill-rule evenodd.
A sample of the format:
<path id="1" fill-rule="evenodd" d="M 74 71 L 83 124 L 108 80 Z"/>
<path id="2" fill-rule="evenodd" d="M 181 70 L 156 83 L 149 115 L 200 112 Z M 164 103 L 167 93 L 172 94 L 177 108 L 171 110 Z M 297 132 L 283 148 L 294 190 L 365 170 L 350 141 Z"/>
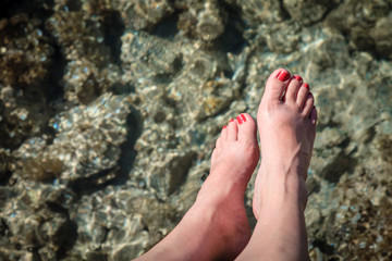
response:
<path id="1" fill-rule="evenodd" d="M 168 234 L 161 227 L 173 227 L 179 219 L 172 207 L 135 187 L 85 196 L 74 211 L 79 235 L 74 253 L 79 258 L 99 249 L 111 260 L 139 256 Z"/>

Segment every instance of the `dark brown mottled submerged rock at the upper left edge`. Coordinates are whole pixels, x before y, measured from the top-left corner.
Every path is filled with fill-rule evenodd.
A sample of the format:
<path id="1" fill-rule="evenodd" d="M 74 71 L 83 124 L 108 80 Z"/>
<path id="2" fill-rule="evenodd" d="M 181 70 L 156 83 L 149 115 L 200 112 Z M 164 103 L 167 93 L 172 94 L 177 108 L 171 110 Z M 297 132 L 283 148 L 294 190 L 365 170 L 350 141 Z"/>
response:
<path id="1" fill-rule="evenodd" d="M 41 21 L 27 13 L 0 20 L 0 83 L 32 85 L 49 72 L 53 48 L 39 28 Z"/>

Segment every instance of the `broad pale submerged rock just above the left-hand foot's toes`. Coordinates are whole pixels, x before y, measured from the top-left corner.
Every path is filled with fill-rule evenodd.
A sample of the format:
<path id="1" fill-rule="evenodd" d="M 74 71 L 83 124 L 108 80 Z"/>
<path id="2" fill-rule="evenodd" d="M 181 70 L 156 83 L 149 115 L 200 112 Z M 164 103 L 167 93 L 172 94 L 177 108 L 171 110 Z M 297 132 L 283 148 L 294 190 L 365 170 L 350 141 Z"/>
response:
<path id="1" fill-rule="evenodd" d="M 238 83 L 224 75 L 229 64 L 223 54 L 217 58 L 191 45 L 139 33 L 125 34 L 123 42 L 122 60 L 128 70 L 125 79 L 137 79 L 134 84 L 140 96 L 161 89 L 186 117 L 212 116 L 228 108 L 238 92 Z"/>

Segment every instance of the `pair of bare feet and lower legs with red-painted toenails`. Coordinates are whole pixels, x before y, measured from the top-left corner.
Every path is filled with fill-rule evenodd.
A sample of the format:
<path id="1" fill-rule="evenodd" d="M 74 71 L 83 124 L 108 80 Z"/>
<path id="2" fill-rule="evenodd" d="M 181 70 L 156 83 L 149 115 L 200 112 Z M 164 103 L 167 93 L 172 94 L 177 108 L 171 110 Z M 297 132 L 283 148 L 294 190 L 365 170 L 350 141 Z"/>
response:
<path id="1" fill-rule="evenodd" d="M 210 175 L 180 224 L 138 260 L 309 260 L 305 181 L 316 136 L 309 86 L 284 69 L 267 80 L 255 120 L 240 114 L 223 126 Z M 244 207 L 259 160 L 250 233 Z"/>

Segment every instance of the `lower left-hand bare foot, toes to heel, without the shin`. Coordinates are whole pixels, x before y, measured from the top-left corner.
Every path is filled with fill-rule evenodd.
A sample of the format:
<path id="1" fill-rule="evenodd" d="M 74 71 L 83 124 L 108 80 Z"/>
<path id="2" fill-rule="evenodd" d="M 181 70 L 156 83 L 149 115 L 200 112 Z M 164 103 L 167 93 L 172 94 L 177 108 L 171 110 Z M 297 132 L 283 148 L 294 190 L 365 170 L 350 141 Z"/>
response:
<path id="1" fill-rule="evenodd" d="M 222 128 L 211 156 L 210 175 L 192 208 L 199 213 L 213 211 L 216 232 L 209 236 L 221 247 L 220 258 L 233 260 L 250 238 L 244 194 L 260 157 L 256 130 L 256 122 L 247 113 Z"/>

